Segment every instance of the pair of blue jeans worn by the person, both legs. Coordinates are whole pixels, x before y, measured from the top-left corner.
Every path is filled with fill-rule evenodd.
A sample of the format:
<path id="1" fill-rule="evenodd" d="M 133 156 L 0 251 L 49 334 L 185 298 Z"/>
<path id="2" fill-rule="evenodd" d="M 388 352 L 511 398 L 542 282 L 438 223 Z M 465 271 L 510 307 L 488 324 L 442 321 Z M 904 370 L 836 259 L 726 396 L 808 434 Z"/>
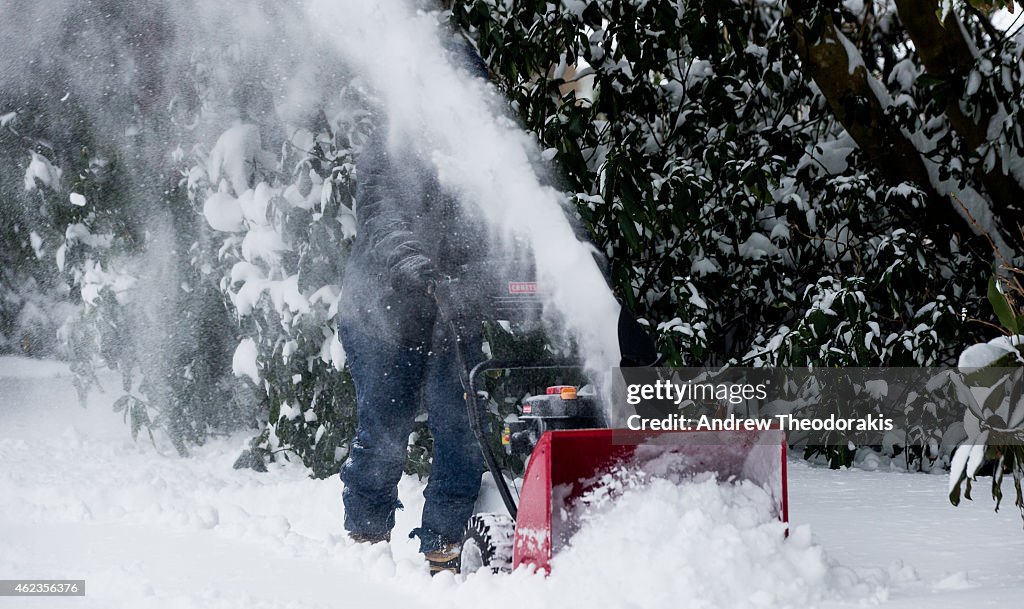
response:
<path id="1" fill-rule="evenodd" d="M 338 329 L 358 416 L 341 467 L 345 528 L 379 536 L 394 527 L 398 481 L 422 399 L 434 446 L 422 526 L 414 533 L 421 552 L 461 541 L 480 490 L 483 459 L 469 427 L 455 342 L 438 332 L 423 345 L 398 346 L 361 333 L 355 320 L 342 319 Z M 464 352 L 479 353 L 479 338 L 467 341 Z"/>

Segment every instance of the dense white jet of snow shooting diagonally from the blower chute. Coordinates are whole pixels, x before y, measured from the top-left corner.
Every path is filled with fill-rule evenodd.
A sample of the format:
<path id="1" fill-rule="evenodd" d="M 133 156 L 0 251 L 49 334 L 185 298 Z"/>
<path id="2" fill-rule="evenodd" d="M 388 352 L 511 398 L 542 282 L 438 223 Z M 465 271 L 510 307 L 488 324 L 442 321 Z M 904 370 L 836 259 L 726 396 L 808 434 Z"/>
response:
<path id="1" fill-rule="evenodd" d="M 579 346 L 607 390 L 618 364 L 615 301 L 563 197 L 543 185 L 529 136 L 509 120 L 493 87 L 446 60 L 436 19 L 402 0 L 312 0 L 311 19 L 381 97 L 392 138 L 431 150 L 442 184 L 482 216 L 498 242 L 532 252 L 546 317 Z M 606 395 L 606 394 L 605 394 Z"/>

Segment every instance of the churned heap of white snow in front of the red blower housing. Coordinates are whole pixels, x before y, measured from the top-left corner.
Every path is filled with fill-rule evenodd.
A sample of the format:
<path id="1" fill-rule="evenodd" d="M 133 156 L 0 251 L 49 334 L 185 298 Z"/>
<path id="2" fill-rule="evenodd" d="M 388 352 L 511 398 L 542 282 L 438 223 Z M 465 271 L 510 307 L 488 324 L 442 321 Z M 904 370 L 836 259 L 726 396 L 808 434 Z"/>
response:
<path id="1" fill-rule="evenodd" d="M 604 474 L 570 511 L 577 530 L 552 560 L 554 584 L 575 582 L 582 606 L 627 606 L 638 591 L 652 607 L 683 599 L 688 607 L 777 608 L 884 598 L 878 582 L 837 567 L 806 526 L 786 538 L 764 488 L 688 475 L 685 461 L 665 453 Z"/>

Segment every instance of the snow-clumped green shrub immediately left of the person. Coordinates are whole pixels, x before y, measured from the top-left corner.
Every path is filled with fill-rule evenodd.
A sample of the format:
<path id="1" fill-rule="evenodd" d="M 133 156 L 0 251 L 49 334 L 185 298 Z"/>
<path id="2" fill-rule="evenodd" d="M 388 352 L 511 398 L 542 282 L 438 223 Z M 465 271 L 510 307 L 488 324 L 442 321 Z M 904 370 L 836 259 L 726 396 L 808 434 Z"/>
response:
<path id="1" fill-rule="evenodd" d="M 359 107 L 339 91 L 348 110 Z M 323 476 L 347 455 L 355 400 L 334 319 L 354 236 L 364 123 L 348 113 L 315 133 L 282 125 L 276 154 L 263 148 L 255 125 L 234 125 L 189 170 L 190 195 L 218 232 L 220 289 L 245 337 L 233 374 L 252 386 L 265 417 L 240 465 L 296 454 Z"/>

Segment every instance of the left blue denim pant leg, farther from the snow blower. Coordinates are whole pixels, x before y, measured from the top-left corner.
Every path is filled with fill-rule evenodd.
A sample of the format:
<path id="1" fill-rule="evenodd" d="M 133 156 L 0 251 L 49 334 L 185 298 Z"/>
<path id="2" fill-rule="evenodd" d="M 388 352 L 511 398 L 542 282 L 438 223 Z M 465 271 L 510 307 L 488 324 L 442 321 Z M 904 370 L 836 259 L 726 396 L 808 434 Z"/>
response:
<path id="1" fill-rule="evenodd" d="M 351 451 L 341 467 L 345 529 L 376 536 L 394 527 L 398 481 L 420 402 L 426 349 L 391 345 L 347 323 L 339 323 L 339 331 L 355 384 L 358 417 Z"/>

